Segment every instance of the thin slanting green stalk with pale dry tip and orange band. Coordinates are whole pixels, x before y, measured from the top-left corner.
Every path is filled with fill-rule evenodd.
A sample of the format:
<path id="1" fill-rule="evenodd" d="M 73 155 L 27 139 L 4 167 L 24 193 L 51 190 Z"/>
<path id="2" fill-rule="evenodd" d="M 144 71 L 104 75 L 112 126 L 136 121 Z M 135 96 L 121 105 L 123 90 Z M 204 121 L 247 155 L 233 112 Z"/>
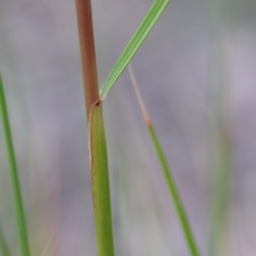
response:
<path id="1" fill-rule="evenodd" d="M 183 207 L 183 203 L 182 203 L 182 200 L 181 200 L 181 197 L 178 193 L 178 190 L 177 190 L 177 186 L 174 182 L 174 179 L 172 177 L 172 172 L 168 166 L 168 163 L 166 161 L 166 156 L 160 146 L 160 142 L 159 142 L 159 139 L 156 135 L 156 132 L 154 130 L 154 126 L 152 125 L 152 122 L 151 122 L 151 119 L 149 118 L 149 115 L 148 115 L 148 111 L 145 107 L 145 104 L 143 102 L 143 97 L 141 96 L 141 93 L 138 89 L 138 86 L 137 86 L 137 80 L 136 80 L 136 77 L 135 77 L 135 74 L 133 72 L 133 69 L 131 67 L 131 64 L 128 65 L 128 71 L 130 73 L 130 77 L 131 77 L 131 84 L 133 85 L 133 88 L 136 92 L 136 95 L 137 95 L 137 99 L 138 99 L 138 102 L 140 104 L 140 107 L 142 109 L 142 113 L 143 113 L 143 118 L 145 120 L 145 123 L 147 125 L 147 128 L 148 128 L 148 132 L 150 134 L 150 137 L 152 139 L 152 142 L 154 144 L 154 149 L 156 151 L 156 154 L 160 160 L 160 165 L 162 167 L 162 171 L 163 171 L 163 174 L 166 178 L 166 184 L 168 186 L 168 189 L 170 191 L 170 195 L 172 196 L 172 200 L 173 200 L 173 203 L 174 203 L 174 206 L 176 208 L 176 211 L 177 211 L 177 216 L 180 220 L 180 223 L 182 225 L 182 228 L 183 228 L 183 234 L 186 238 L 186 241 L 188 243 L 188 247 L 189 247 L 189 250 L 190 250 L 190 254 L 193 255 L 193 256 L 199 256 L 200 253 L 198 251 L 198 248 L 196 246 L 196 242 L 195 242 L 195 237 L 193 235 L 193 232 L 190 228 L 190 224 L 189 224 L 189 218 L 187 217 L 187 214 L 185 212 L 185 209 Z"/>

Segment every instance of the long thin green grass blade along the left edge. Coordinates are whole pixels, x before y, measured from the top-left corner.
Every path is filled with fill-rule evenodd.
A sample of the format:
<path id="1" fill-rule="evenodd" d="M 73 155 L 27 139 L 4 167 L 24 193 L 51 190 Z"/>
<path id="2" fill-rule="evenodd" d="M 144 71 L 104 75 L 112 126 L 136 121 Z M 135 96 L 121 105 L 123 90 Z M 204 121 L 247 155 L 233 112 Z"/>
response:
<path id="1" fill-rule="evenodd" d="M 17 217 L 17 224 L 20 236 L 20 248 L 22 256 L 29 256 L 29 247 L 26 234 L 26 220 L 23 208 L 23 202 L 20 191 L 20 178 L 18 173 L 18 168 L 15 159 L 15 148 L 12 140 L 11 129 L 9 125 L 9 114 L 7 110 L 7 104 L 5 100 L 3 82 L 0 74 L 0 111 L 3 118 L 3 132 L 6 140 L 6 148 L 9 156 L 9 171 L 12 181 L 14 199 L 15 199 L 15 210 Z"/>

